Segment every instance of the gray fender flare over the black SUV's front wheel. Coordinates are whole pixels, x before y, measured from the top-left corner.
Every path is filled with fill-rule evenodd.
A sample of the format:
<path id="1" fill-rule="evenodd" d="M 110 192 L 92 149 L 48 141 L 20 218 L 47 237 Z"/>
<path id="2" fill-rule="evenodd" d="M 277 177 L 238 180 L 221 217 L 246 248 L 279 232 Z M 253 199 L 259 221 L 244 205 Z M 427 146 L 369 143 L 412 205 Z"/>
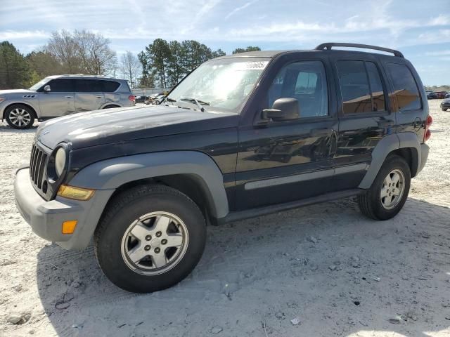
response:
<path id="1" fill-rule="evenodd" d="M 69 184 L 114 190 L 134 180 L 174 174 L 195 178 L 211 201 L 214 218 L 224 218 L 229 213 L 224 176 L 211 157 L 197 151 L 154 152 L 98 161 L 79 171 Z"/>

